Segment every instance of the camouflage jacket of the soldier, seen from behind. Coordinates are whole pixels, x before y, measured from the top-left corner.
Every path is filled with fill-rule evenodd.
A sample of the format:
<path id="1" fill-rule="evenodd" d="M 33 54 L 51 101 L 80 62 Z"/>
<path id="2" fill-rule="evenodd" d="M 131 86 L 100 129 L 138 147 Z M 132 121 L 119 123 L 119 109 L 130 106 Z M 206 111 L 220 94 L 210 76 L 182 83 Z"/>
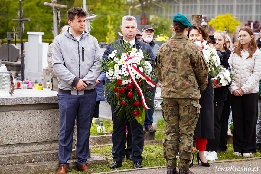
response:
<path id="1" fill-rule="evenodd" d="M 162 81 L 162 98 L 200 99 L 207 87 L 208 66 L 201 48 L 184 34 L 174 34 L 161 45 L 154 62 Z"/>

